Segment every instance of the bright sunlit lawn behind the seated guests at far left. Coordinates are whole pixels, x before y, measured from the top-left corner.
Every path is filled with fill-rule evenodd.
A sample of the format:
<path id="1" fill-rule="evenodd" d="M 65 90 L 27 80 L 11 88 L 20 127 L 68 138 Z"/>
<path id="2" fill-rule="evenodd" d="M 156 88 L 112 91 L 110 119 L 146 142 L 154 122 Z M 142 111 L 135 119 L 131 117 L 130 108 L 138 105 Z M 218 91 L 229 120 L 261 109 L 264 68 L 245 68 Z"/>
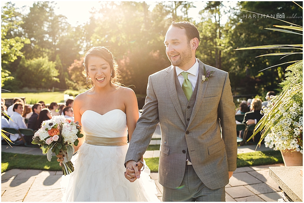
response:
<path id="1" fill-rule="evenodd" d="M 63 92 L 39 92 L 39 93 L 1 93 L 2 98 L 25 97 L 26 102 L 30 100 L 44 101 L 45 103 L 64 102 Z"/>

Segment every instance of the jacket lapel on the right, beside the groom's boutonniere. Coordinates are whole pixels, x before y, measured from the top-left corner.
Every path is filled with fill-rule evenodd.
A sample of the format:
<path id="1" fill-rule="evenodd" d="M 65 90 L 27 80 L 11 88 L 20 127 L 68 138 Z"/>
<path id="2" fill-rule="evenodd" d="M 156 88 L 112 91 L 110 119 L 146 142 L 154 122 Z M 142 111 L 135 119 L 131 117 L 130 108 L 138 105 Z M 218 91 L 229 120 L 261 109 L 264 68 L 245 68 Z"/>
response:
<path id="1" fill-rule="evenodd" d="M 198 75 L 198 77 L 199 77 L 198 83 L 199 84 L 198 84 L 198 89 L 197 89 L 197 93 L 196 93 L 195 104 L 194 104 L 194 107 L 193 107 L 193 110 L 192 110 L 192 113 L 191 113 L 191 117 L 190 117 L 188 126 L 190 125 L 190 123 L 194 119 L 196 113 L 198 112 L 199 107 L 202 104 L 202 100 L 204 98 L 204 94 L 205 94 L 206 89 L 207 89 L 208 80 L 205 80 L 202 83 L 202 75 L 204 75 L 203 68 L 204 68 L 204 64 L 199 60 L 199 75 Z"/>

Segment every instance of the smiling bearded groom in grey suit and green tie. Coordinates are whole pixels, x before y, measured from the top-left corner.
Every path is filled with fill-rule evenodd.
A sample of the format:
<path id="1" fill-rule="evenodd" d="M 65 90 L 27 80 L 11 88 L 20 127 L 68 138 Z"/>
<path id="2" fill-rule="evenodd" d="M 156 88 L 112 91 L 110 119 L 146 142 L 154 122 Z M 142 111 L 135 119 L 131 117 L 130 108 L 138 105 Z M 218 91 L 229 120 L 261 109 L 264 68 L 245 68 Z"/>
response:
<path id="1" fill-rule="evenodd" d="M 199 40 L 193 23 L 172 22 L 164 41 L 172 65 L 149 76 L 126 154 L 125 176 L 133 182 L 140 177 L 137 161 L 160 123 L 163 201 L 225 201 L 225 185 L 237 167 L 229 76 L 195 58 Z"/>

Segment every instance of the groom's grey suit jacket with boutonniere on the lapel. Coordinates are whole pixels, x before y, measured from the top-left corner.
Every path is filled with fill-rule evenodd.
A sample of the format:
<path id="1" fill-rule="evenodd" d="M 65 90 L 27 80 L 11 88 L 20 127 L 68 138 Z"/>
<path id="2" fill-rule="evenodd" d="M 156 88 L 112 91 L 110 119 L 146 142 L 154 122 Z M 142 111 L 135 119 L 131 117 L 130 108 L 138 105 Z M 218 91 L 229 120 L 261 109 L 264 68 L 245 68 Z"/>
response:
<path id="1" fill-rule="evenodd" d="M 203 66 L 215 72 L 201 83 Z M 159 183 L 167 188 L 180 186 L 188 148 L 201 181 L 210 189 L 221 188 L 229 182 L 228 171 L 235 171 L 237 167 L 235 105 L 228 73 L 199 61 L 196 101 L 187 126 L 175 88 L 174 69 L 170 66 L 149 76 L 143 113 L 130 140 L 125 162 L 139 160 L 159 122 Z"/>

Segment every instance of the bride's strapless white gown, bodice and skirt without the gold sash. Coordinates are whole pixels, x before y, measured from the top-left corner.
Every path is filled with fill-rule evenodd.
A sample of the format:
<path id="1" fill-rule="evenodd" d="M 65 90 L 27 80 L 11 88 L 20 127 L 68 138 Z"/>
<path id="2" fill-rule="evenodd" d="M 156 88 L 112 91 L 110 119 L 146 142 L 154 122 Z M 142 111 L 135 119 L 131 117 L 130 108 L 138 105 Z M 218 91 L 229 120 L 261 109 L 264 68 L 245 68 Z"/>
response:
<path id="1" fill-rule="evenodd" d="M 86 110 L 81 117 L 86 134 L 102 138 L 127 136 L 126 114 L 119 109 L 104 115 Z M 101 138 L 101 139 L 102 139 Z M 75 171 L 62 176 L 63 201 L 159 201 L 146 166 L 140 178 L 129 182 L 124 166 L 129 144 L 98 146 L 83 143 L 73 156 Z"/>

